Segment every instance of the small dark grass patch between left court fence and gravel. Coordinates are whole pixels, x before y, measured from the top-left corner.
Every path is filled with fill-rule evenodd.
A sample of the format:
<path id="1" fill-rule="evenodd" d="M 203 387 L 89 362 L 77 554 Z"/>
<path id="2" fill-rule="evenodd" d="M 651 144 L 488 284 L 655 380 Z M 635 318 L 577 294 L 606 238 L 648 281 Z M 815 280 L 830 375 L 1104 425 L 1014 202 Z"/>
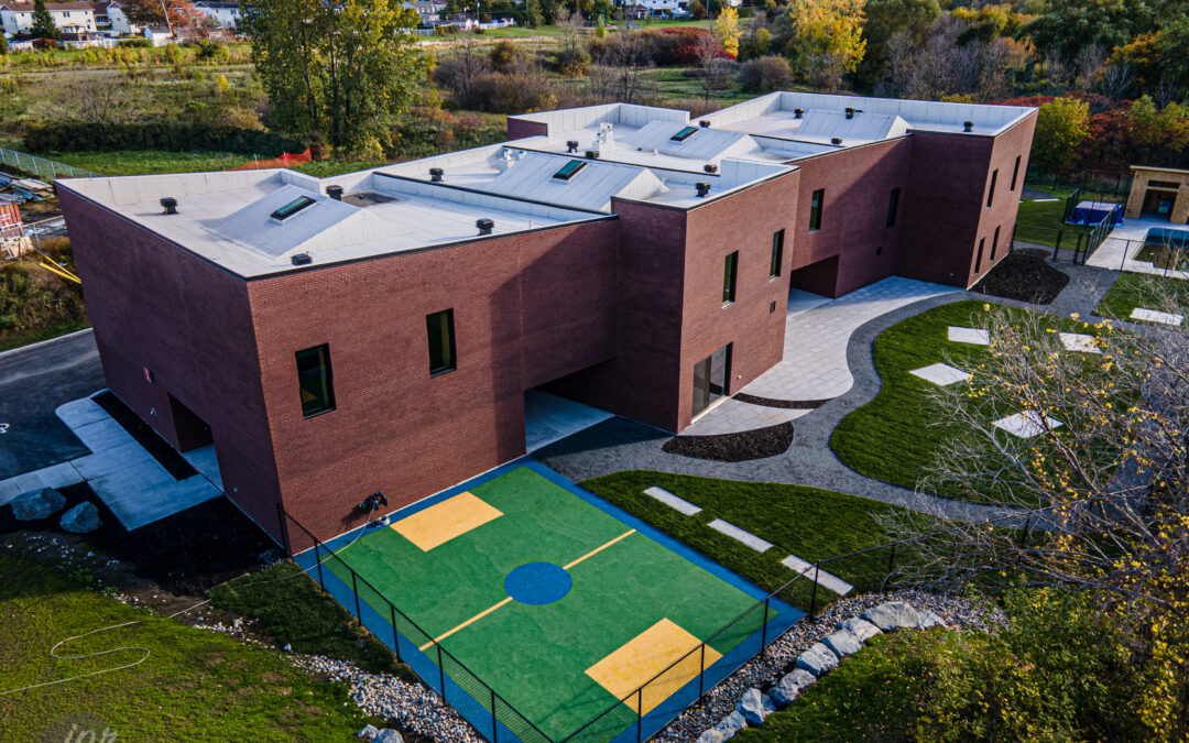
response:
<path id="1" fill-rule="evenodd" d="M 256 617 L 278 648 L 352 661 L 378 673 L 413 679 L 413 672 L 382 642 L 359 629 L 354 618 L 292 562 L 278 562 L 207 592 L 215 609 Z"/>

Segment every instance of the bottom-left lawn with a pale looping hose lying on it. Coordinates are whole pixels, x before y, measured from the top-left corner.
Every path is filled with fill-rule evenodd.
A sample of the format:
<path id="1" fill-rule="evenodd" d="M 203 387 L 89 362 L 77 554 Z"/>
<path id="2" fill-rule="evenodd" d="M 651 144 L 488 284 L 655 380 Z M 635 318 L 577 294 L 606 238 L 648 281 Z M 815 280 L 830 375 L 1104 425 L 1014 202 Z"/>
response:
<path id="1" fill-rule="evenodd" d="M 137 610 L 49 566 L 0 556 L 0 692 L 136 662 L 122 670 L 0 697 L 6 741 L 40 741 L 69 714 L 124 741 L 347 741 L 369 722 L 341 684 L 315 681 L 279 653 Z M 56 660 L 55 643 L 87 635 Z M 63 739 L 62 737 L 55 739 Z"/>

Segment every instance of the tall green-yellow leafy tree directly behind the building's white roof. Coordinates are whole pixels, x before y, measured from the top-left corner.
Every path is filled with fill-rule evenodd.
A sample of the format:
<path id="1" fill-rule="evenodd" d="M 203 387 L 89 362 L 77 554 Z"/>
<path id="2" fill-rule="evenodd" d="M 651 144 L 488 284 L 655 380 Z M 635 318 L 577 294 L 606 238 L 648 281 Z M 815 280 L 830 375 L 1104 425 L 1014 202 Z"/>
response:
<path id="1" fill-rule="evenodd" d="M 391 145 L 417 94 L 419 18 L 395 0 L 258 0 L 241 31 L 282 127 L 321 132 L 342 152 Z"/>

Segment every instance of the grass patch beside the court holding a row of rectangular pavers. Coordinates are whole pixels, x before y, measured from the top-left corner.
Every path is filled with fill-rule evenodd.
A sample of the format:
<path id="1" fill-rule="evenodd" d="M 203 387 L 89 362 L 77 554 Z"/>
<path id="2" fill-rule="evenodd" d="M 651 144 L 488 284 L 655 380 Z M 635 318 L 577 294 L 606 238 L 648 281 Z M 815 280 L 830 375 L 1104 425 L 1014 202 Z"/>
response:
<path id="1" fill-rule="evenodd" d="M 644 490 L 654 485 L 702 506 L 703 511 L 685 516 L 646 496 Z M 775 591 L 795 575 L 780 563 L 789 554 L 813 562 L 892 541 L 876 520 L 900 510 L 879 500 L 801 485 L 738 483 L 646 470 L 605 474 L 584 481 L 583 487 L 768 591 Z M 711 529 L 707 524 L 715 518 L 746 529 L 774 547 L 757 553 Z M 898 555 L 907 556 L 904 550 Z M 888 555 L 877 550 L 826 563 L 822 569 L 864 592 L 880 588 L 887 566 Z M 801 579 L 781 596 L 807 610 L 811 591 L 810 581 Z M 833 598 L 831 591 L 818 590 L 818 605 Z"/>

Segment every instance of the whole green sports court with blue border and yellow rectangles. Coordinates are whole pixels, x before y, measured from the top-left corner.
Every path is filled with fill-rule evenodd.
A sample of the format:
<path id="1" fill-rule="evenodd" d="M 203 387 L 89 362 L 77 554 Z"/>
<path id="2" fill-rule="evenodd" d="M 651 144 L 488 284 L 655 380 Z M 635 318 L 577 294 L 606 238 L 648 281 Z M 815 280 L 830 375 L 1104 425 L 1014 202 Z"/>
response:
<path id="1" fill-rule="evenodd" d="M 436 641 L 537 729 L 531 737 L 553 741 L 594 718 L 575 741 L 635 739 L 637 712 L 647 737 L 697 698 L 703 663 L 709 690 L 801 616 L 773 600 L 766 630 L 760 606 L 716 635 L 765 593 L 530 460 L 329 548 L 420 628 L 397 616 L 401 656 L 427 684 L 439 686 Z M 298 561 L 313 565 L 313 555 Z M 327 578 L 351 585 L 336 560 L 323 554 L 322 565 Z M 327 587 L 351 606 L 332 583 Z M 360 598 L 388 619 L 386 603 L 366 590 Z M 367 622 L 371 613 L 364 611 L 365 623 L 391 644 L 391 629 L 385 625 L 385 637 Z M 704 654 L 666 670 L 707 640 Z M 452 682 L 447 700 L 487 735 L 490 692 L 453 662 L 443 670 Z M 661 672 L 643 694 L 617 704 Z M 476 704 L 459 704 L 460 691 Z M 515 713 L 499 712 L 499 739 L 524 732 Z"/>

